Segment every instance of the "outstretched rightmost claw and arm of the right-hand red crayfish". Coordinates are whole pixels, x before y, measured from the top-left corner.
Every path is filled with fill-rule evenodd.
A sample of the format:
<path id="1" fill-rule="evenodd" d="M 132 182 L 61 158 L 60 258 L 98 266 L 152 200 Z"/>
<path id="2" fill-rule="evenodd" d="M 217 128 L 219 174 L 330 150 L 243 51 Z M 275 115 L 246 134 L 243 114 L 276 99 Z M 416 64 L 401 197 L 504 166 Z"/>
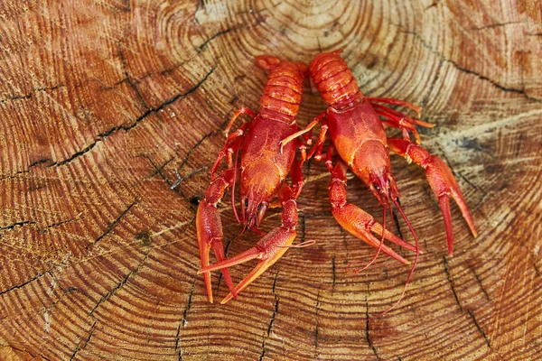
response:
<path id="1" fill-rule="evenodd" d="M 444 225 L 446 227 L 446 238 L 448 242 L 448 254 L 453 255 L 453 232 L 452 215 L 450 213 L 450 197 L 452 197 L 459 206 L 463 218 L 471 229 L 472 236 L 477 236 L 471 212 L 463 198 L 463 193 L 459 189 L 457 180 L 453 176 L 450 167 L 436 155 L 431 155 L 425 148 L 410 143 L 400 138 L 388 138 L 388 145 L 392 152 L 404 156 L 407 160 L 412 160 L 425 169 L 425 177 L 429 181 L 429 186 L 438 199 L 439 206 L 443 213 Z"/>

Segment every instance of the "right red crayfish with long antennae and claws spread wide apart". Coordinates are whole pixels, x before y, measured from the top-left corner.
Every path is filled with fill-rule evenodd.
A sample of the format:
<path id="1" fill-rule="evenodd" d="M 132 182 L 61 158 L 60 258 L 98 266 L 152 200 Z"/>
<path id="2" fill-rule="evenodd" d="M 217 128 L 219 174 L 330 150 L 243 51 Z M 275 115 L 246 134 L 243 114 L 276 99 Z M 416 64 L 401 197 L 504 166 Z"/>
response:
<path id="1" fill-rule="evenodd" d="M 459 205 L 463 218 L 471 228 L 473 236 L 476 236 L 476 230 L 469 209 L 450 168 L 440 158 L 431 155 L 416 144 L 420 143 L 420 138 L 414 125 L 425 127 L 433 125 L 406 116 L 388 106 L 383 106 L 383 104 L 407 106 L 415 110 L 419 116 L 419 108 L 405 101 L 393 98 L 364 97 L 347 64 L 341 59 L 340 53 L 341 51 L 322 53 L 311 61 L 309 75 L 328 108 L 320 116 L 314 118 L 313 122 L 307 125 L 304 130 L 286 137 L 281 144 L 287 146 L 289 142 L 299 135 L 311 134 L 313 127 L 320 124 L 321 131 L 318 140 L 308 153 L 308 157 L 314 155 L 316 160 L 321 160 L 322 146 L 326 134 L 330 134 L 332 144 L 327 151 L 325 163 L 332 173 L 329 186 L 332 214 L 337 222 L 352 235 L 378 248 L 376 255 L 369 264 L 374 262 L 380 251 L 393 256 L 401 262 L 406 263 L 406 260 L 383 245 L 384 237 L 378 242 L 374 236 L 370 235 L 369 229 L 374 230 L 373 218 L 361 208 L 347 202 L 345 187 L 347 167 L 367 185 L 382 204 L 384 208 L 382 224 L 384 227 L 386 227 L 387 209 L 391 212 L 391 203 L 396 206 L 416 241 L 415 247 L 406 245 L 406 248 L 416 251 L 415 261 L 406 279 L 407 284 L 418 260 L 418 238 L 397 200 L 399 192 L 396 181 L 391 174 L 390 151 L 406 157 L 408 162 L 416 162 L 416 164 L 425 168 L 426 178 L 438 198 L 443 213 L 448 253 L 450 255 L 453 254 L 450 196 Z M 403 139 L 388 138 L 384 125 L 402 129 Z M 408 132 L 415 135 L 416 143 L 410 142 Z M 338 153 L 339 160 L 333 166 L 332 155 L 334 153 Z M 371 229 L 371 227 L 373 228 Z M 403 297 L 404 292 L 405 289 L 398 301 Z M 389 310 L 393 309 L 398 301 Z"/>

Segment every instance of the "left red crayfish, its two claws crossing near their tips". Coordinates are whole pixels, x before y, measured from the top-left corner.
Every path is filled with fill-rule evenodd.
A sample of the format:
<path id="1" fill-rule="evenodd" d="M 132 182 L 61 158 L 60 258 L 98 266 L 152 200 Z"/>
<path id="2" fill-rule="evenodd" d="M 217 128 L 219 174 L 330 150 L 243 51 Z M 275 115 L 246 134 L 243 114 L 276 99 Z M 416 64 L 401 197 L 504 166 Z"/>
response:
<path id="1" fill-rule="evenodd" d="M 196 216 L 202 267 L 200 273 L 203 273 L 210 302 L 212 302 L 211 271 L 220 269 L 228 284 L 230 293 L 222 303 L 231 300 L 232 297 L 237 298 L 238 292 L 244 290 L 285 254 L 288 247 L 292 246 L 296 235 L 295 199 L 304 185 L 301 165 L 306 159 L 306 148 L 303 140 L 298 138 L 286 145 L 281 152 L 279 142 L 299 131 L 295 116 L 301 103 L 307 67 L 303 63 L 279 60 L 269 55 L 258 56 L 256 63 L 259 68 L 269 70 L 264 94 L 260 98 L 259 113 L 242 107 L 232 116 L 225 131 L 226 143 L 210 171 L 210 186 L 205 192 L 205 198 L 200 202 Z M 251 120 L 229 134 L 229 129 L 240 115 L 247 115 Z M 305 137 L 305 140 L 308 138 Z M 301 161 L 295 158 L 297 148 L 301 151 Z M 216 176 L 220 162 L 225 158 L 228 168 Z M 292 180 L 291 186 L 285 182 L 288 174 Z M 240 217 L 235 205 L 236 180 L 239 181 L 240 187 Z M 229 188 L 232 188 L 231 207 L 234 215 L 245 229 L 251 229 L 258 234 L 263 233 L 258 227 L 275 197 L 278 197 L 283 212 L 280 227 L 267 233 L 254 247 L 226 259 L 217 203 Z M 209 263 L 210 248 L 213 249 L 218 261 L 212 265 Z M 255 258 L 260 261 L 254 270 L 234 286 L 227 267 Z"/>

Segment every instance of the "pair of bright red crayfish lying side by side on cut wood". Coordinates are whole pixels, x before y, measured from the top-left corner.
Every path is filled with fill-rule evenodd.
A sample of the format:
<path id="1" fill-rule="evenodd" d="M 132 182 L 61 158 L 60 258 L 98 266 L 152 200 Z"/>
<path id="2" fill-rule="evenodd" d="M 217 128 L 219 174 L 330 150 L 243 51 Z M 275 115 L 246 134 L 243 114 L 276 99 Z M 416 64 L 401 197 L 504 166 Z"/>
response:
<path id="1" fill-rule="evenodd" d="M 463 218 L 471 228 L 472 234 L 476 236 L 471 214 L 452 171 L 440 158 L 431 155 L 418 145 L 420 138 L 415 125 L 425 127 L 433 125 L 389 107 L 406 106 L 416 111 L 419 117 L 420 109 L 405 101 L 364 97 L 350 69 L 341 59 L 340 52 L 319 54 L 308 67 L 300 62 L 279 60 L 269 55 L 257 57 L 257 66 L 269 70 L 264 95 L 260 99 L 259 113 L 243 107 L 232 116 L 225 131 L 227 141 L 210 171 L 212 180 L 205 191 L 205 198 L 200 202 L 196 218 L 202 267 L 200 273 L 203 273 L 210 302 L 212 302 L 211 271 L 220 269 L 228 284 L 230 292 L 222 301 L 225 303 L 231 298 L 237 298 L 239 292 L 275 264 L 289 247 L 294 246 L 292 244 L 296 236 L 298 211 L 296 199 L 304 186 L 301 167 L 304 161 L 312 157 L 317 161 L 325 159 L 325 165 L 332 174 L 329 197 L 333 217 L 352 235 L 377 248 L 372 260 L 361 269 L 372 264 L 380 252 L 392 256 L 403 264 L 409 264 L 404 257 L 384 244 L 384 240 L 387 239 L 416 253 L 406 279 L 407 284 L 420 254 L 416 232 L 398 202 L 399 191 L 391 173 L 389 152 L 402 155 L 408 162 L 416 162 L 425 168 L 425 175 L 444 216 L 450 255 L 453 254 L 450 196 L 459 205 Z M 295 117 L 301 103 L 304 79 L 307 76 L 318 88 L 328 108 L 304 129 L 300 129 L 295 123 Z M 249 116 L 251 121 L 229 133 L 240 115 Z M 321 131 L 313 143 L 312 130 L 315 125 L 320 125 Z M 402 138 L 388 138 L 385 126 L 401 129 Z M 415 143 L 410 142 L 409 133 L 414 134 Z M 326 153 L 322 154 L 327 136 L 331 142 Z M 307 150 L 307 145 L 312 145 L 312 148 Z M 300 160 L 296 158 L 297 150 L 301 153 Z M 338 155 L 335 161 L 334 155 Z M 218 173 L 220 162 L 224 159 L 228 167 Z M 384 208 L 382 224 L 363 209 L 348 203 L 346 199 L 348 169 L 367 185 L 382 204 Z M 288 175 L 291 184 L 286 182 Z M 240 187 L 240 216 L 235 206 L 236 180 L 239 181 Z M 280 227 L 272 229 L 254 247 L 226 258 L 217 204 L 229 188 L 233 188 L 231 190 L 233 212 L 245 229 L 263 234 L 258 227 L 266 209 L 273 204 L 272 201 L 276 197 L 283 207 L 283 212 Z M 386 229 L 386 217 L 388 210 L 391 214 L 392 206 L 395 206 L 404 218 L 415 239 L 415 245 L 406 243 Z M 217 258 L 216 264 L 210 265 L 210 248 Z M 255 258 L 259 259 L 256 267 L 237 286 L 234 285 L 228 267 Z M 406 285 L 392 308 L 403 297 L 405 290 Z"/>

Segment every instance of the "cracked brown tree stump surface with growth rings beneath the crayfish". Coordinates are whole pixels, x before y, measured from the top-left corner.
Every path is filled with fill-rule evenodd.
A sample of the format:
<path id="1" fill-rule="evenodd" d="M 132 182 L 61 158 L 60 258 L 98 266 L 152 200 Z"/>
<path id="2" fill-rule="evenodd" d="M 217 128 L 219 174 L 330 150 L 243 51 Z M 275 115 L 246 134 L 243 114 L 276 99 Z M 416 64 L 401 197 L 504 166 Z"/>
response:
<path id="1" fill-rule="evenodd" d="M 541 17 L 536 0 L 0 1 L 0 358 L 539 359 Z M 453 168 L 479 236 L 453 206 L 447 256 L 423 170 L 394 157 L 425 254 L 397 310 L 367 321 L 408 267 L 381 256 L 345 272 L 373 250 L 337 226 L 311 162 L 299 239 L 317 244 L 209 304 L 195 211 L 221 130 L 257 109 L 254 58 L 336 49 L 365 94 L 423 106 L 423 144 Z M 324 109 L 308 90 L 301 125 Z M 381 218 L 359 180 L 348 189 Z M 235 255 L 258 236 L 234 239 L 227 206 Z"/>

